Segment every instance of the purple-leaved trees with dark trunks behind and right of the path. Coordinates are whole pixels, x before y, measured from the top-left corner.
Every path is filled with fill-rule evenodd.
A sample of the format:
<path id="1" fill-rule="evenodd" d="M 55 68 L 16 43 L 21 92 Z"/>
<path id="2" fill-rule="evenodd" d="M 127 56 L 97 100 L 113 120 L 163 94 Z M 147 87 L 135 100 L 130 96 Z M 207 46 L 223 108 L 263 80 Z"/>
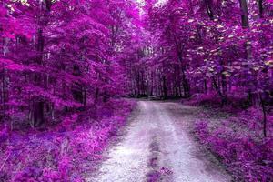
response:
<path id="1" fill-rule="evenodd" d="M 147 1 L 146 42 L 130 57 L 133 96 L 189 97 L 215 92 L 261 103 L 264 136 L 273 100 L 272 2 Z M 132 74 L 132 73 L 131 73 Z"/>

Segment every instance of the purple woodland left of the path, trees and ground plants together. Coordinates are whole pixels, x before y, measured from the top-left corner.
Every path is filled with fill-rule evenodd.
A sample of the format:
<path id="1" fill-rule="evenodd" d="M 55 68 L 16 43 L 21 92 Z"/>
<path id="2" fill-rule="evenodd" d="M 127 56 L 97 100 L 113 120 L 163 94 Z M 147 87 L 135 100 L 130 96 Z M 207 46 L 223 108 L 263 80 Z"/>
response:
<path id="1" fill-rule="evenodd" d="M 0 1 L 0 181 L 83 181 L 133 108 L 124 0 Z"/>

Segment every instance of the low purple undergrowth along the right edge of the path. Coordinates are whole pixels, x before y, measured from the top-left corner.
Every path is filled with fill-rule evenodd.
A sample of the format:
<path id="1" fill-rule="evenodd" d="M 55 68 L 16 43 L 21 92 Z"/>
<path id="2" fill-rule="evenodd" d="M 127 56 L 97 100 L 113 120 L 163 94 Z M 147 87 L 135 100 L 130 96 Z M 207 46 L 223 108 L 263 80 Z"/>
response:
<path id="1" fill-rule="evenodd" d="M 233 174 L 235 181 L 269 182 L 273 177 L 273 117 L 268 114 L 268 137 L 262 135 L 262 111 L 239 105 L 219 108 L 217 96 L 196 96 L 184 103 L 200 109 L 195 135 Z M 218 117 L 217 117 L 218 116 Z M 271 135 L 270 135 L 271 134 Z"/>

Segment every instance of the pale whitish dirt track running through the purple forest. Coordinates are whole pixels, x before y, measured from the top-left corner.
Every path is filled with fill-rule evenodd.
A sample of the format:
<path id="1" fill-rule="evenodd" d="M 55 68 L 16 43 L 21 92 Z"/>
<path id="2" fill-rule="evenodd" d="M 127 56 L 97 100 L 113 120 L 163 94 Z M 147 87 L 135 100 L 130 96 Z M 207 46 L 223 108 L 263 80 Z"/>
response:
<path id="1" fill-rule="evenodd" d="M 126 136 L 110 148 L 92 182 L 224 182 L 230 177 L 188 134 L 194 107 L 139 101 Z M 207 159 L 209 158 L 209 159 Z"/>

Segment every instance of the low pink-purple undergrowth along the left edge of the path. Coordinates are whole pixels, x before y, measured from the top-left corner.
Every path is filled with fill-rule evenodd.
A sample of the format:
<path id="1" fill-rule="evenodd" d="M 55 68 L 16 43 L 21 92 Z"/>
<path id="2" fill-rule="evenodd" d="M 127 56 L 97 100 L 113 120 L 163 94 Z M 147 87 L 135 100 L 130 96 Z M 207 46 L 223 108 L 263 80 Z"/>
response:
<path id="1" fill-rule="evenodd" d="M 0 161 L 0 181 L 83 181 L 109 139 L 126 124 L 135 103 L 113 100 L 107 105 L 115 116 L 78 123 L 78 115 L 73 115 L 50 131 L 15 132 L 0 152 L 6 159 L 5 164 Z"/>

